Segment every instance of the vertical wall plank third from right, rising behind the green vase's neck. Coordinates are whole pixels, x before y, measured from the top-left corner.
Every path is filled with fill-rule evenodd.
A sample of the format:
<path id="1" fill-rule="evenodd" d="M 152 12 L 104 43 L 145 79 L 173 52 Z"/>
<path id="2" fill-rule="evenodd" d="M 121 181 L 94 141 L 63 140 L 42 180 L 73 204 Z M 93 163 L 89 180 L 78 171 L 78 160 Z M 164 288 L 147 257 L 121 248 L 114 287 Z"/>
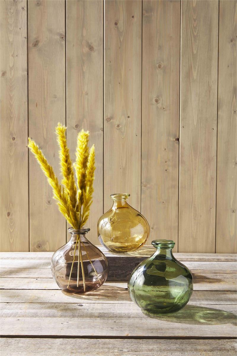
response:
<path id="1" fill-rule="evenodd" d="M 143 1 L 142 214 L 178 247 L 180 1 Z"/>

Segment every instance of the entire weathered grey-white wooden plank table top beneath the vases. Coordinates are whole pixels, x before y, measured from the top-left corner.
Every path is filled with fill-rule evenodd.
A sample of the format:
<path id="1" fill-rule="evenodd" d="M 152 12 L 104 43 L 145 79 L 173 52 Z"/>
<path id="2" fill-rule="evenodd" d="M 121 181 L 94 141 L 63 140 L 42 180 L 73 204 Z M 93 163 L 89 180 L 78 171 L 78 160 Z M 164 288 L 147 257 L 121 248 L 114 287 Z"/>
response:
<path id="1" fill-rule="evenodd" d="M 155 318 L 130 300 L 126 282 L 61 292 L 51 256 L 1 253 L 1 356 L 236 355 L 236 255 L 176 253 L 194 292 L 185 308 Z"/>

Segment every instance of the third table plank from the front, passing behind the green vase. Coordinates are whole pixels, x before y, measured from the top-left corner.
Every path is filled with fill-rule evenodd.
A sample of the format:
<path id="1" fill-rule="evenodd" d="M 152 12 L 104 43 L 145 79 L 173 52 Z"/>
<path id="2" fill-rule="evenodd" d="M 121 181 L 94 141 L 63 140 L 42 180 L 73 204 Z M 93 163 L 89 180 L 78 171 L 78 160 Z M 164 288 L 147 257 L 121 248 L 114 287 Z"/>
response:
<path id="1" fill-rule="evenodd" d="M 113 303 L 133 304 L 128 290 L 97 289 L 86 294 L 69 294 L 61 290 L 3 289 L 2 303 Z M 235 292 L 195 290 L 189 304 L 237 304 Z"/>

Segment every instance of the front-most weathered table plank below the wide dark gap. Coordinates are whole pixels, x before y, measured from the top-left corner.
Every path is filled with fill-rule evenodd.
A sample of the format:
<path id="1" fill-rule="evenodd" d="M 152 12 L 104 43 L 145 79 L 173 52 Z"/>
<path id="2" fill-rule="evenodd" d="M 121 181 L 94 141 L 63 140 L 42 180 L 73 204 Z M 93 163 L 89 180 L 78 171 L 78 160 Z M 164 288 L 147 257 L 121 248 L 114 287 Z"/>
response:
<path id="1" fill-rule="evenodd" d="M 187 344 L 192 344 L 192 353 Z M 235 340 L 19 339 L 2 338 L 1 356 L 236 356 Z M 92 347 L 93 345 L 93 347 Z M 93 351 L 92 351 L 93 350 Z M 39 352 L 39 351 L 37 351 Z"/>

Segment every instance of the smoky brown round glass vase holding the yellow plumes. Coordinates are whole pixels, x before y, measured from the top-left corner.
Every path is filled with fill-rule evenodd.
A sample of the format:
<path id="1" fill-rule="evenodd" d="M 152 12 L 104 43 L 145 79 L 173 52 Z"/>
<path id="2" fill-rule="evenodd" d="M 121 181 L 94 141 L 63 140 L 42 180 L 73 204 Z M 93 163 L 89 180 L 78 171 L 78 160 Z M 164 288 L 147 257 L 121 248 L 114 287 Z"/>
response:
<path id="1" fill-rule="evenodd" d="M 88 228 L 68 229 L 69 242 L 52 256 L 52 274 L 58 286 L 69 293 L 86 293 L 99 288 L 109 273 L 104 254 L 85 237 Z"/>

